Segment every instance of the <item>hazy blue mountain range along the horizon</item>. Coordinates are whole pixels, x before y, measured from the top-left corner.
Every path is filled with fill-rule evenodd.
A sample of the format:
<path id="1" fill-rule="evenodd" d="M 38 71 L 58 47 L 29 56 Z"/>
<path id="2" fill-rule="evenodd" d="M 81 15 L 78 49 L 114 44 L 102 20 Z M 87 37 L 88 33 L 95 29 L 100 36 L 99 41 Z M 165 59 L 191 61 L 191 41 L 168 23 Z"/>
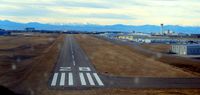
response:
<path id="1" fill-rule="evenodd" d="M 38 22 L 18 23 L 9 20 L 0 20 L 0 28 L 6 30 L 24 30 L 26 27 L 34 27 L 37 30 L 77 30 L 77 31 L 136 31 L 136 32 L 159 32 L 160 26 L 156 25 L 95 25 L 95 24 L 42 24 Z M 172 30 L 179 33 L 200 34 L 200 26 L 165 25 L 164 30 Z"/>

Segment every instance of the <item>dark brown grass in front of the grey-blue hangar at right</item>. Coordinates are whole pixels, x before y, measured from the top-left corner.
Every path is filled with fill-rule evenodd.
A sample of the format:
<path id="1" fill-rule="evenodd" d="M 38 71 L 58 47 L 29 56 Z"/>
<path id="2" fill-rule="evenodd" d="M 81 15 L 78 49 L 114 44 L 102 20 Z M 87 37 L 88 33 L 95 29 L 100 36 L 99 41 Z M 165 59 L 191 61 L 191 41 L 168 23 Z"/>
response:
<path id="1" fill-rule="evenodd" d="M 148 47 L 146 47 L 146 49 L 149 49 L 150 51 L 155 51 L 155 52 L 161 53 L 161 54 L 157 53 L 156 55 L 142 51 L 142 50 L 138 50 L 138 48 L 143 48 L 143 46 L 139 46 L 139 47 L 124 46 L 124 47 L 126 47 L 127 49 L 129 49 L 137 54 L 142 54 L 146 57 L 152 57 L 156 61 L 160 61 L 165 64 L 169 64 L 169 65 L 173 66 L 174 68 L 179 68 L 186 72 L 190 72 L 194 75 L 200 76 L 200 64 L 199 64 L 200 60 L 194 60 L 194 59 L 179 57 L 179 56 L 172 56 L 170 54 L 162 54 L 162 52 L 159 48 L 165 48 L 166 50 L 163 50 L 163 52 L 166 53 L 167 48 L 169 46 L 165 46 L 165 45 L 150 46 L 150 45 L 148 45 Z"/>

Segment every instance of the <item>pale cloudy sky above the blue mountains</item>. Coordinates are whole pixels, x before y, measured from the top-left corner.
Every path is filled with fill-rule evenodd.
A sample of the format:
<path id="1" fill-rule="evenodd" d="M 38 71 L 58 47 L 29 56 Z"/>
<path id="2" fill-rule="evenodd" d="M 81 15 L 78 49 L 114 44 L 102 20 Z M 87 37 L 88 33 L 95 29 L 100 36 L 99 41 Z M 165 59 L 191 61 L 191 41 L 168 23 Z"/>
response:
<path id="1" fill-rule="evenodd" d="M 0 20 L 200 26 L 200 0 L 0 0 Z"/>

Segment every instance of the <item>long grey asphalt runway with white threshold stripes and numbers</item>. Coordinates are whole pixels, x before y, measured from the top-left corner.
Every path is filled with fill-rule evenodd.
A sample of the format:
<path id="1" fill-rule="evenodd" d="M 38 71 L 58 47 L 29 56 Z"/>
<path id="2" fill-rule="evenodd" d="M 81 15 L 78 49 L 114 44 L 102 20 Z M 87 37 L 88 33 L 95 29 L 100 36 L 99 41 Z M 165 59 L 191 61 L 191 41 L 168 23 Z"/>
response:
<path id="1" fill-rule="evenodd" d="M 103 80 L 72 35 L 66 35 L 64 39 L 49 86 L 57 89 L 83 89 L 104 86 Z"/>

